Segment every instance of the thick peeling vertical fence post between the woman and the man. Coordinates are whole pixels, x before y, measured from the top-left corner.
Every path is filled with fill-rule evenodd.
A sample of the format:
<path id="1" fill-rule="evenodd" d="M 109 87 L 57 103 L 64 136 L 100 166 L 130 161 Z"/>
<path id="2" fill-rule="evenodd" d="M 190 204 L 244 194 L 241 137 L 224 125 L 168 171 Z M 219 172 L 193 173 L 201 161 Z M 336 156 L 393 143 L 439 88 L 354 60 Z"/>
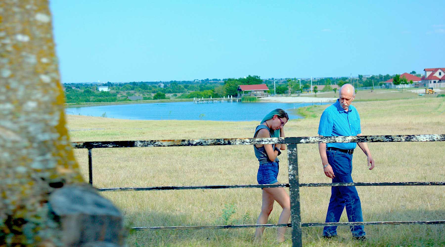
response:
<path id="1" fill-rule="evenodd" d="M 287 145 L 287 158 L 289 161 L 289 191 L 291 194 L 292 247 L 302 247 L 297 144 Z"/>

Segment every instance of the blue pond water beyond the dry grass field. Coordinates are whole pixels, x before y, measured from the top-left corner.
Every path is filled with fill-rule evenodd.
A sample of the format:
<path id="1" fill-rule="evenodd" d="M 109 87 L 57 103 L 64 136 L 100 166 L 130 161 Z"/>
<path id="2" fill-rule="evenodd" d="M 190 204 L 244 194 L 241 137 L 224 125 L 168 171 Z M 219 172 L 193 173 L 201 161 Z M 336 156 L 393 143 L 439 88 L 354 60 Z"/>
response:
<path id="1" fill-rule="evenodd" d="M 316 104 L 316 103 L 314 103 Z M 317 103 L 320 104 L 320 103 Z M 312 103 L 210 103 L 193 102 L 121 104 L 66 108 L 67 114 L 129 120 L 261 121 L 273 109 L 295 109 Z M 288 112 L 289 118 L 301 118 Z"/>

